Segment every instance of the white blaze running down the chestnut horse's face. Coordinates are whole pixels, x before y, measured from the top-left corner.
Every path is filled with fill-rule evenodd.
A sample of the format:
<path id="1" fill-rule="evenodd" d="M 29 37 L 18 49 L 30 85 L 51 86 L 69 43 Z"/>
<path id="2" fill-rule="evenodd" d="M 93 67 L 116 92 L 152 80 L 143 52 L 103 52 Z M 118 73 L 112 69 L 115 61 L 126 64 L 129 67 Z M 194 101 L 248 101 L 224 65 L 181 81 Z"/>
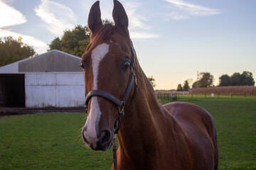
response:
<path id="1" fill-rule="evenodd" d="M 102 59 L 105 57 L 107 52 L 109 51 L 109 46 L 106 43 L 102 43 L 95 47 L 92 50 L 92 73 L 93 73 L 93 89 L 97 89 L 97 76 L 99 72 L 99 65 Z M 85 137 L 87 141 L 92 144 L 93 147 L 96 147 L 97 142 L 97 126 L 99 125 L 100 120 L 100 106 L 97 102 L 97 96 L 93 96 L 91 99 L 90 113 L 85 123 L 87 130 L 85 132 Z"/>

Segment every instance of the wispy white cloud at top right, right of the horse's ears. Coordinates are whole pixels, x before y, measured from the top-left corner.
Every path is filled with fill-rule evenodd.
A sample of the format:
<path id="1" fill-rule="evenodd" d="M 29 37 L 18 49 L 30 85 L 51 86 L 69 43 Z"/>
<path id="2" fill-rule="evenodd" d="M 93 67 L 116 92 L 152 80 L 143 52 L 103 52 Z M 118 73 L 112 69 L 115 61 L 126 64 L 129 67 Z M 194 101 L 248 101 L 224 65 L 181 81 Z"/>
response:
<path id="1" fill-rule="evenodd" d="M 189 4 L 183 0 L 164 0 L 174 5 L 176 8 L 175 12 L 168 13 L 167 15 L 174 20 L 188 19 L 192 16 L 211 16 L 220 14 L 222 11 L 215 8 L 207 8 L 204 6 L 198 6 L 194 4 Z"/>

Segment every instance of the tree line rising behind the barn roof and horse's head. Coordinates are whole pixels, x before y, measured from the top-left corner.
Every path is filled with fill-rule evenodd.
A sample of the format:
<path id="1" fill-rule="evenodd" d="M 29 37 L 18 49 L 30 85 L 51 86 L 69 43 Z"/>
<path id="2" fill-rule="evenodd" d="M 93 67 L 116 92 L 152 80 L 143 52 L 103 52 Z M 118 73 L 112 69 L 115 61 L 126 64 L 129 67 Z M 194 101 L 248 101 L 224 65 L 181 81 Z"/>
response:
<path id="1" fill-rule="evenodd" d="M 113 23 L 108 19 L 103 23 Z M 49 46 L 50 50 L 60 50 L 71 55 L 81 57 L 90 43 L 90 30 L 87 26 L 75 26 L 72 30 L 65 30 L 61 37 L 55 37 Z M 15 40 L 12 37 L 0 38 L 0 67 L 11 64 L 28 57 L 33 57 L 37 53 L 33 47 L 22 42 L 22 38 Z"/>

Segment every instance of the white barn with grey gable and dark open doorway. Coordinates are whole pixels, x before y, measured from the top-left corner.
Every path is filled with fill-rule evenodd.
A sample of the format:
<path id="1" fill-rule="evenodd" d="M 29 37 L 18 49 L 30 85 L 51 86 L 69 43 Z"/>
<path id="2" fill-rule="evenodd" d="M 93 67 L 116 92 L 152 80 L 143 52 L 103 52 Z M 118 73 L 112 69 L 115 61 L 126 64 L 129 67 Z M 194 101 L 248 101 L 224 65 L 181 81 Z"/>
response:
<path id="1" fill-rule="evenodd" d="M 82 107 L 80 57 L 59 50 L 0 67 L 1 107 Z"/>

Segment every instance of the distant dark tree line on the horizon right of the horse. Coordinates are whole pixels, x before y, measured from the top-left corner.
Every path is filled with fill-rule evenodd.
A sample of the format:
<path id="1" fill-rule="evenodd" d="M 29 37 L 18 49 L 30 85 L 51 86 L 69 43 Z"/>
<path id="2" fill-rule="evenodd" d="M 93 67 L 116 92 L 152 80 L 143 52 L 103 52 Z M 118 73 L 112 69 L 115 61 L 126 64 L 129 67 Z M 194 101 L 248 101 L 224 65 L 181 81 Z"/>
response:
<path id="1" fill-rule="evenodd" d="M 193 89 L 213 86 L 213 75 L 209 72 L 201 72 L 198 81 L 192 84 Z M 231 76 L 223 74 L 219 77 L 218 86 L 255 86 L 252 72 L 244 71 L 242 74 L 235 72 Z M 188 91 L 190 88 L 188 80 L 184 81 L 183 86 L 178 84 L 177 91 Z"/>

